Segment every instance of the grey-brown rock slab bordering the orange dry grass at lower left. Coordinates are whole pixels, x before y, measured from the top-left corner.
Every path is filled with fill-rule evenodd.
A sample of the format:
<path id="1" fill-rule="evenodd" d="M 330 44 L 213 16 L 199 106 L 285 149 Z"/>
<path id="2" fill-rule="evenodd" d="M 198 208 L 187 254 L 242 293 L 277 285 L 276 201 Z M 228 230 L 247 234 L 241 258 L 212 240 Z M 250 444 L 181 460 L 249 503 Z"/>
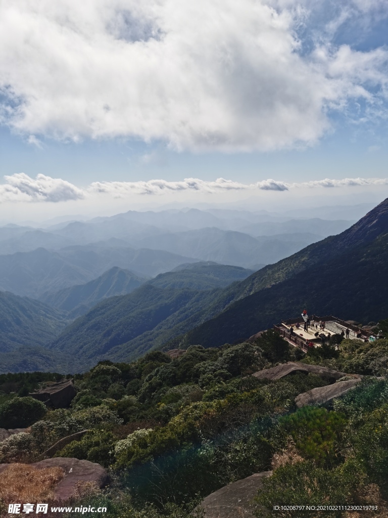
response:
<path id="1" fill-rule="evenodd" d="M 7 469 L 9 464 L 0 464 L 0 473 Z M 76 495 L 77 482 L 94 482 L 100 489 L 109 482 L 108 472 L 99 464 L 89 461 L 80 461 L 78 458 L 46 458 L 44 461 L 31 464 L 38 469 L 43 468 L 62 468 L 65 476 L 56 486 L 54 499 L 68 500 Z"/>

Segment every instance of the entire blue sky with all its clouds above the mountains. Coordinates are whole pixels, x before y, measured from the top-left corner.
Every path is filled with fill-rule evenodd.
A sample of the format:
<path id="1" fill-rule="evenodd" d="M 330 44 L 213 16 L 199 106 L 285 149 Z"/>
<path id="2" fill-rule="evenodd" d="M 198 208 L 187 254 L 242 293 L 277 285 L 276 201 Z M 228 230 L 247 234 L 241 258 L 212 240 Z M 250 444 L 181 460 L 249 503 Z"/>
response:
<path id="1" fill-rule="evenodd" d="M 388 196 L 386 0 L 3 0 L 0 221 Z"/>

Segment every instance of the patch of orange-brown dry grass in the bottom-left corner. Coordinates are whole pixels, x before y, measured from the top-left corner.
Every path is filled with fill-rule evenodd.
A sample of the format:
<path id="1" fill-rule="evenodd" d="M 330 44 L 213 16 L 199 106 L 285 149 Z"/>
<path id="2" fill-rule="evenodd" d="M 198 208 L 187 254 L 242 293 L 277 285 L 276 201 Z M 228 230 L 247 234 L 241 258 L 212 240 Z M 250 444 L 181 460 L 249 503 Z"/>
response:
<path id="1" fill-rule="evenodd" d="M 51 500 L 64 477 L 59 467 L 37 469 L 28 464 L 10 464 L 0 473 L 0 499 L 5 503 L 36 503 Z"/>

